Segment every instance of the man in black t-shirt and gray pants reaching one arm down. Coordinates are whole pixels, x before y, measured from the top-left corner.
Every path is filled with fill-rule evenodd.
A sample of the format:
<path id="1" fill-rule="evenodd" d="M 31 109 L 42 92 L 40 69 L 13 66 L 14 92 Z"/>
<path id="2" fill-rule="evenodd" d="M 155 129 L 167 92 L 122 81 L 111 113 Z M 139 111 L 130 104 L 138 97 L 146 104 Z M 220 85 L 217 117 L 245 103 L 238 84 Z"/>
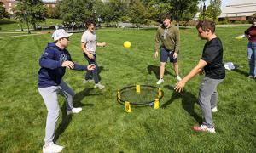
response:
<path id="1" fill-rule="evenodd" d="M 215 133 L 215 127 L 212 121 L 212 112 L 217 111 L 217 86 L 223 82 L 225 77 L 225 69 L 223 65 L 223 47 L 220 39 L 214 34 L 215 23 L 212 21 L 200 21 L 196 26 L 198 35 L 207 42 L 203 49 L 202 57 L 199 63 L 184 77 L 180 82 L 176 83 L 174 88 L 181 92 L 192 77 L 199 73 L 205 72 L 206 76 L 201 82 L 199 89 L 199 105 L 203 115 L 201 126 L 194 126 L 193 129 L 198 132 Z"/>

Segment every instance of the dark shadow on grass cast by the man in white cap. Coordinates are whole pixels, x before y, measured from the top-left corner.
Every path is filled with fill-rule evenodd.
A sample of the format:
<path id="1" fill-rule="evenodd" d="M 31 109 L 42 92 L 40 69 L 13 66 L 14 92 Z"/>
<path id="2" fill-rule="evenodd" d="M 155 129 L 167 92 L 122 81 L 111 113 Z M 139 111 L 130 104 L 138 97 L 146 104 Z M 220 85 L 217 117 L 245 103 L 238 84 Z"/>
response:
<path id="1" fill-rule="evenodd" d="M 73 99 L 73 105 L 75 107 L 83 107 L 83 106 L 94 106 L 94 104 L 83 104 L 81 101 L 84 99 L 85 96 L 94 96 L 94 95 L 99 95 L 99 94 L 90 94 L 90 91 L 93 90 L 93 88 L 84 88 L 83 91 L 80 91 L 78 94 L 75 94 L 74 99 Z M 67 106 L 66 103 L 64 103 L 61 107 L 61 112 L 62 112 L 62 120 L 59 125 L 59 127 L 56 129 L 55 132 L 55 138 L 54 142 L 59 139 L 60 135 L 65 132 L 67 129 L 69 123 L 72 120 L 72 115 L 67 116 Z"/>

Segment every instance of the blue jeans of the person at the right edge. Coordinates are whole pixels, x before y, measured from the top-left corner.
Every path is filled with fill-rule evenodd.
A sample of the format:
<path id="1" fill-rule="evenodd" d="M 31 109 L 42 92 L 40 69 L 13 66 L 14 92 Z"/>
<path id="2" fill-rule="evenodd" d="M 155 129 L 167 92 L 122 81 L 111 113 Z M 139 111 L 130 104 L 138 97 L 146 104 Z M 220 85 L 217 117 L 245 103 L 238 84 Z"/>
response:
<path id="1" fill-rule="evenodd" d="M 249 59 L 249 75 L 255 77 L 256 76 L 256 42 L 249 42 L 247 46 L 247 57 Z"/>

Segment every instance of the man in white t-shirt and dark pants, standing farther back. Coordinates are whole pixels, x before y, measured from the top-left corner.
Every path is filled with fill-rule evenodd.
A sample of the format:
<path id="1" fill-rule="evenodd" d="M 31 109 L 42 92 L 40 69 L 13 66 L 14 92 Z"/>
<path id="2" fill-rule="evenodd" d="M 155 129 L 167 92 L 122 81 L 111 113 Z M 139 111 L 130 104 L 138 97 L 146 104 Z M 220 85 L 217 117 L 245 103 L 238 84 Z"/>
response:
<path id="1" fill-rule="evenodd" d="M 94 20 L 88 19 L 85 21 L 85 26 L 87 27 L 87 30 L 84 31 L 84 34 L 81 38 L 81 48 L 84 52 L 84 58 L 88 61 L 89 64 L 95 64 L 96 69 L 93 71 L 87 71 L 84 77 L 84 83 L 90 82 L 90 76 L 93 76 L 95 86 L 94 88 L 100 88 L 103 89 L 105 86 L 103 86 L 99 80 L 99 74 L 98 74 L 98 64 L 96 62 L 96 46 L 104 47 L 106 46 L 105 42 L 96 42 L 96 23 Z"/>

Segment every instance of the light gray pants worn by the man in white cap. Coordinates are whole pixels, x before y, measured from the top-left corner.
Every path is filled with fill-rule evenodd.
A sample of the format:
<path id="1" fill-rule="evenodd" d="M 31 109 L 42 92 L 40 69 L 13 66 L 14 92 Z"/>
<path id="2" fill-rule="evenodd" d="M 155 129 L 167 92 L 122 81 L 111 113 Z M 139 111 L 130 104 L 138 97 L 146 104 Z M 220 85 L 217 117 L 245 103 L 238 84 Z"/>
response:
<path id="1" fill-rule="evenodd" d="M 59 86 L 47 88 L 38 88 L 39 93 L 44 99 L 48 114 L 45 127 L 44 143 L 49 144 L 55 137 L 55 125 L 59 118 L 60 106 L 58 103 L 58 94 L 66 98 L 67 111 L 73 109 L 73 96 L 75 95 L 72 88 L 69 88 L 66 82 L 61 81 Z"/>

